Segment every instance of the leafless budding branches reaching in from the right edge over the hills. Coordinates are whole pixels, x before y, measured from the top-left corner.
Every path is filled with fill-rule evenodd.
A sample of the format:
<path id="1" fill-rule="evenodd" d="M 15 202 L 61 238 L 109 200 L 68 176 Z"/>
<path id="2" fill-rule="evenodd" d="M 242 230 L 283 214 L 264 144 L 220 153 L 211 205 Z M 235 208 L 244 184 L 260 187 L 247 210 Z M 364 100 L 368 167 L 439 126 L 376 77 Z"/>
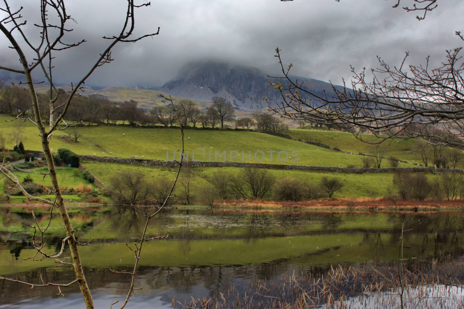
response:
<path id="1" fill-rule="evenodd" d="M 423 65 L 390 67 L 380 57 L 380 67 L 372 69 L 367 80 L 366 69 L 353 67 L 350 87 L 332 85 L 332 95 L 322 97 L 289 76 L 280 50 L 276 57 L 282 79 L 270 82 L 281 93 L 281 101 L 270 102 L 270 110 L 282 117 L 319 119 L 338 126 L 363 140 L 361 133 L 373 134 L 378 144 L 388 138 L 420 138 L 436 145 L 464 147 L 464 63 L 461 48 L 446 51 L 446 60 L 436 69 L 429 68 L 429 57 Z"/>

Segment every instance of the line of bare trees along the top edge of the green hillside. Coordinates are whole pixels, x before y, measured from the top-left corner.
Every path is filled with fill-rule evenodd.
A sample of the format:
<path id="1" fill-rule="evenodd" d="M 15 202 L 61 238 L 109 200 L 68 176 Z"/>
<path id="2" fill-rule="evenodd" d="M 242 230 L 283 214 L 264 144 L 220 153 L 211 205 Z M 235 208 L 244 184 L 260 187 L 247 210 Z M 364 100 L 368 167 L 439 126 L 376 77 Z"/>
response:
<path id="1" fill-rule="evenodd" d="M 59 88 L 58 92 L 64 92 Z M 42 114 L 50 113 L 50 104 L 47 98 L 50 91 L 39 96 L 39 108 Z M 64 104 L 64 95 L 58 96 L 58 100 L 53 104 L 57 108 L 55 113 L 61 112 L 60 106 Z M 0 113 L 1 114 L 20 114 L 29 115 L 30 98 L 28 94 L 17 87 L 6 86 L 0 83 Z M 176 116 L 177 114 L 177 116 Z M 69 106 L 66 114 L 68 120 L 79 123 L 117 123 L 123 121 L 129 125 L 153 125 L 173 126 L 177 123 L 176 117 L 180 122 L 187 126 L 201 126 L 202 128 L 212 127 L 224 129 L 226 122 L 232 122 L 236 129 L 256 127 L 259 131 L 283 132 L 288 126 L 280 117 L 264 114 L 255 111 L 250 117 L 235 117 L 235 109 L 232 104 L 222 97 L 213 97 L 211 105 L 201 108 L 199 105 L 188 99 L 178 102 L 178 110 L 174 113 L 170 105 L 156 106 L 150 110 L 143 109 L 134 100 L 115 103 L 99 95 L 81 95 L 73 98 L 73 104 Z"/>

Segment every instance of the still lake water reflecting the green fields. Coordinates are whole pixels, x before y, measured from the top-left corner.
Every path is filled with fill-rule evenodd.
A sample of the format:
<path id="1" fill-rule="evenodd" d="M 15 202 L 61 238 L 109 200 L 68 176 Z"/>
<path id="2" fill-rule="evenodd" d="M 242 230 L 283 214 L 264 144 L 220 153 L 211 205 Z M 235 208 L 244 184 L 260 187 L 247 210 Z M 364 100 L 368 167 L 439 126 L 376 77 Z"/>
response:
<path id="1" fill-rule="evenodd" d="M 92 208 L 71 214 L 79 228 L 84 271 L 97 307 L 109 308 L 129 287 L 134 254 L 126 243 L 140 236 L 144 219 L 131 208 Z M 36 214 L 39 224 L 48 214 Z M 460 261 L 464 255 L 464 214 L 323 214 L 223 213 L 173 209 L 153 219 L 147 235 L 168 233 L 167 239 L 144 244 L 139 276 L 128 308 L 168 308 L 177 300 L 218 295 L 231 284 L 239 289 L 251 278 L 273 279 L 286 272 L 329 269 L 330 265 L 362 265 L 398 258 L 401 224 L 404 256 L 432 261 L 438 254 Z M 0 275 L 39 283 L 72 281 L 67 266 L 52 260 L 24 260 L 33 255 L 30 212 L 0 209 Z M 58 215 L 46 233 L 48 250 L 56 252 L 63 238 Z M 69 259 L 64 253 L 64 261 Z M 75 287 L 34 288 L 0 281 L 0 309 L 82 308 Z"/>

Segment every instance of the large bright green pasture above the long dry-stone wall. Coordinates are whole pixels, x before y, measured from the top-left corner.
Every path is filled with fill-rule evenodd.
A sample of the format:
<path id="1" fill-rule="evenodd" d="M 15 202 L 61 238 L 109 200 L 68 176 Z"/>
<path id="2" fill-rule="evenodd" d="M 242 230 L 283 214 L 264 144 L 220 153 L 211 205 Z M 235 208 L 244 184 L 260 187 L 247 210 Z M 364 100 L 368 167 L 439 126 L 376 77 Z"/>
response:
<path id="1" fill-rule="evenodd" d="M 11 119 L 11 117 L 6 117 Z M 7 137 L 6 146 L 13 148 L 14 141 L 11 138 L 14 122 L 0 121 L 0 132 L 3 132 Z M 181 139 L 180 130 L 178 129 L 148 129 L 148 128 L 133 128 L 124 126 L 83 126 L 80 129 L 82 136 L 78 142 L 70 142 L 61 139 L 63 134 L 71 134 L 71 132 L 57 131 L 51 140 L 51 148 L 57 151 L 58 148 L 68 148 L 80 155 L 98 156 L 113 156 L 130 158 L 137 156 L 141 158 L 152 158 L 158 160 L 167 160 L 167 151 L 169 158 L 173 158 L 173 152 L 180 149 Z M 26 123 L 23 143 L 28 150 L 41 150 L 41 143 L 37 129 L 29 123 Z M 203 151 L 198 148 L 205 148 L 205 157 Z M 202 161 L 209 160 L 209 152 L 211 151 L 211 160 L 224 161 L 219 155 L 226 151 L 228 157 L 230 151 L 237 158 L 233 158 L 234 162 L 262 162 L 273 164 L 298 164 L 298 165 L 317 165 L 317 166 L 361 166 L 361 158 L 357 155 L 345 154 L 314 145 L 308 145 L 301 142 L 284 139 L 269 134 L 258 132 L 245 131 L 211 131 L 211 130 L 185 130 L 185 149 L 189 153 L 191 159 L 192 151 L 195 151 L 195 159 Z M 215 158 L 217 151 L 218 157 Z M 251 151 L 251 158 L 242 159 L 242 151 L 245 155 Z M 257 159 L 254 158 L 256 151 L 264 152 L 264 160 L 262 153 L 257 153 Z M 276 151 L 271 154 L 267 151 Z M 277 158 L 278 151 L 287 151 L 289 158 L 282 162 Z M 292 156 L 292 151 L 297 151 L 297 156 L 300 157 L 297 161 L 297 156 Z M 179 152 L 176 153 L 176 158 L 179 158 Z M 281 155 L 282 159 L 286 156 Z M 230 161 L 229 158 L 227 158 Z M 408 164 L 403 164 L 407 166 Z M 387 162 L 384 163 L 387 166 Z"/>

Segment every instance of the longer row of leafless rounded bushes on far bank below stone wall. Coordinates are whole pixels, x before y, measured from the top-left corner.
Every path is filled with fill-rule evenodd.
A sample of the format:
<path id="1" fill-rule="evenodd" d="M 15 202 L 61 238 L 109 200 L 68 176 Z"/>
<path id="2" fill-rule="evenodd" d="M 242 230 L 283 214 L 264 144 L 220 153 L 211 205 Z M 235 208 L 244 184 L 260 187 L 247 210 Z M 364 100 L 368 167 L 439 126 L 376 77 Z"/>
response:
<path id="1" fill-rule="evenodd" d="M 274 201 L 305 201 L 322 197 L 332 197 L 343 187 L 336 177 L 322 177 L 315 183 L 299 178 L 277 179 L 266 169 L 245 167 L 238 174 L 224 170 L 215 171 L 205 178 L 206 184 L 199 188 L 193 183 L 198 176 L 190 168 L 188 161 L 181 171 L 179 187 L 175 199 L 170 202 L 191 205 L 195 202 L 213 206 L 214 201 L 226 199 L 257 198 Z M 150 181 L 142 171 L 122 171 L 110 179 L 111 195 L 123 204 L 161 205 L 170 189 L 170 181 L 161 177 Z"/>

